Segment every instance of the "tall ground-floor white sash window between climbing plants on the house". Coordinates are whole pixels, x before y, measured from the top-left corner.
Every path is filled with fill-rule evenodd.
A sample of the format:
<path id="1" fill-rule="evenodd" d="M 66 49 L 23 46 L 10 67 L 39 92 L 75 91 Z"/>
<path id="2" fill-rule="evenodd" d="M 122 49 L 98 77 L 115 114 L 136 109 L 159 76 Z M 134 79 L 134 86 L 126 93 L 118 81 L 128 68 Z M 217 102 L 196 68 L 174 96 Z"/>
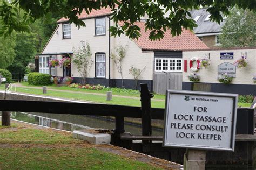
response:
<path id="1" fill-rule="evenodd" d="M 106 77 L 106 56 L 105 54 L 96 54 L 95 55 L 95 72 L 96 77 L 98 78 L 105 78 Z"/>

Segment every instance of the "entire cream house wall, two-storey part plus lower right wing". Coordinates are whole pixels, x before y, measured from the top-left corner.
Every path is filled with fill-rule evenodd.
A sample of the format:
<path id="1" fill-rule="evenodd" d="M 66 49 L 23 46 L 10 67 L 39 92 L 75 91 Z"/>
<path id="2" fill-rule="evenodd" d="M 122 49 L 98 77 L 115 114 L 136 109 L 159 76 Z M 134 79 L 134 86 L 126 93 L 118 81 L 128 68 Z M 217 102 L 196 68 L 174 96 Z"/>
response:
<path id="1" fill-rule="evenodd" d="M 71 24 L 71 38 L 63 39 L 62 37 L 62 23 L 58 24 L 57 30 L 58 34 L 53 33 L 52 38 L 49 43 L 46 45 L 42 54 L 48 53 L 64 53 L 72 52 L 72 47 L 78 48 L 80 46 L 80 41 L 89 42 L 90 49 L 92 53 L 92 67 L 90 69 L 89 77 L 95 77 L 95 53 L 104 52 L 106 55 L 106 79 L 109 77 L 109 18 L 106 19 L 106 35 L 104 36 L 95 36 L 95 18 L 84 20 L 86 27 L 76 27 L 74 24 Z M 113 22 L 111 21 L 111 25 Z M 123 60 L 123 79 L 133 79 L 133 76 L 129 74 L 129 69 L 131 65 L 134 65 L 136 68 L 145 70 L 140 77 L 140 80 L 152 80 L 153 79 L 153 58 L 154 53 L 142 52 L 142 49 L 136 44 L 136 42 L 130 40 L 125 36 L 121 37 L 111 37 L 110 39 L 110 53 L 116 53 L 116 47 L 122 45 L 127 46 L 126 56 Z M 57 55 L 57 59 L 62 59 L 62 55 Z M 80 77 L 80 74 L 77 71 L 77 68 L 72 63 L 71 76 Z M 63 68 L 57 67 L 57 76 L 63 76 Z M 112 59 L 110 59 L 110 74 L 111 79 L 120 79 L 120 74 L 117 71 L 116 65 Z"/>

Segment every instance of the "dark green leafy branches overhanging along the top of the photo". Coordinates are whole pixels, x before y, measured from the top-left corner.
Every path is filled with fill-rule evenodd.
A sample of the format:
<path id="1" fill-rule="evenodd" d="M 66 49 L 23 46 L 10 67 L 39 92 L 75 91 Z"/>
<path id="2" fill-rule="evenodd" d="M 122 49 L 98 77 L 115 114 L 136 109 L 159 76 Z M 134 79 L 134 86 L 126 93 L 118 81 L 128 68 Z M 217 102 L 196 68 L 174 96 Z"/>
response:
<path id="1" fill-rule="evenodd" d="M 85 23 L 77 17 L 83 9 L 89 14 L 92 9 L 99 10 L 109 7 L 112 9 L 111 19 L 116 23 L 116 26 L 110 29 L 113 36 L 125 34 L 130 38 L 138 38 L 140 28 L 136 26 L 136 22 L 140 21 L 140 18 L 148 16 L 149 19 L 145 23 L 146 29 L 151 30 L 149 38 L 156 40 L 163 38 L 164 31 L 167 29 L 171 30 L 173 36 L 181 34 L 182 27 L 192 30 L 196 23 L 193 19 L 187 18 L 187 16 L 191 17 L 189 10 L 197 9 L 200 6 L 207 7 L 207 11 L 211 15 L 210 20 L 220 23 L 223 20 L 220 13 L 228 15 L 229 9 L 235 5 L 238 8 L 256 11 L 255 0 L 14 0 L 10 4 L 4 0 L 3 5 L 0 6 L 0 16 L 4 21 L 0 33 L 9 34 L 14 30 L 28 31 L 29 23 L 48 16 L 50 12 L 69 18 L 70 22 L 75 23 L 78 27 L 85 26 Z M 24 13 L 22 17 L 20 16 L 21 11 Z M 170 15 L 165 16 L 164 14 L 167 12 Z M 123 25 L 119 26 L 118 22 L 123 22 Z"/>

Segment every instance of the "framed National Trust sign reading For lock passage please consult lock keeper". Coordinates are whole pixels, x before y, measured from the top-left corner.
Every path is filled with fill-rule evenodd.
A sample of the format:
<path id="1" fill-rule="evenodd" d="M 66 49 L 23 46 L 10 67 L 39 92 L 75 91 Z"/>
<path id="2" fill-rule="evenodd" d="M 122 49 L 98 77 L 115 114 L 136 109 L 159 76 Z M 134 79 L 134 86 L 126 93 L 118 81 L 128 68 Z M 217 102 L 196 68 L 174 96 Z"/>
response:
<path id="1" fill-rule="evenodd" d="M 237 97 L 167 90 L 163 146 L 234 151 Z"/>

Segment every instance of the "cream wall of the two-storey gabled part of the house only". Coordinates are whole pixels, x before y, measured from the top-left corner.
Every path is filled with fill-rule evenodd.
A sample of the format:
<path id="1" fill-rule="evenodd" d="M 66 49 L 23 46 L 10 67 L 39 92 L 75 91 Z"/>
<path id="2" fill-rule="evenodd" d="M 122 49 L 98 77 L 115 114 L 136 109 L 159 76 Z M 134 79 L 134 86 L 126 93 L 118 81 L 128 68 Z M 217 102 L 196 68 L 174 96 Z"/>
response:
<path id="1" fill-rule="evenodd" d="M 73 47 L 76 49 L 80 46 L 80 41 L 89 42 L 90 49 L 92 53 L 92 67 L 89 73 L 89 77 L 95 77 L 95 53 L 97 52 L 104 52 L 106 55 L 106 67 L 109 65 L 109 18 L 105 17 L 106 23 L 106 34 L 104 36 L 95 36 L 95 19 L 86 19 L 84 20 L 86 27 L 78 27 L 75 24 L 71 24 L 71 38 L 70 39 L 63 39 L 62 38 L 62 23 L 58 24 L 58 34 L 55 32 L 53 33 L 52 38 L 50 39 L 49 43 L 46 45 L 42 54 L 47 53 L 63 53 L 63 52 L 72 52 Z M 71 76 L 72 77 L 80 77 L 76 66 L 72 64 Z M 60 71 L 61 70 L 61 71 Z M 59 73 L 59 71 L 61 73 Z M 57 68 L 57 75 L 62 75 L 62 68 Z M 108 77 L 109 72 L 106 69 L 106 78 Z"/>

